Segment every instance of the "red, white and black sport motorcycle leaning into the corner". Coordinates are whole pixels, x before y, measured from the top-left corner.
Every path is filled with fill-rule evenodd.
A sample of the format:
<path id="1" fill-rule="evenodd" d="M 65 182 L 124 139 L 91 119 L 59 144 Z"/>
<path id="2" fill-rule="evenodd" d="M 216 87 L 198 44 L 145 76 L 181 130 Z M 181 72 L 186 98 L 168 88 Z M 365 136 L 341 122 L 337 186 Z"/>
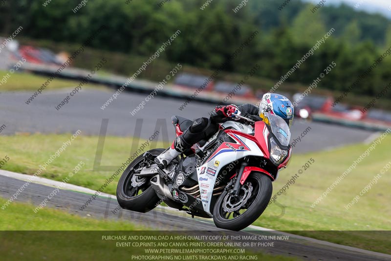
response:
<path id="1" fill-rule="evenodd" d="M 266 209 L 272 182 L 289 162 L 292 146 L 286 122 L 270 113 L 235 115 L 219 130 L 174 159 L 165 170 L 154 158 L 157 148 L 137 157 L 117 185 L 123 209 L 146 213 L 161 202 L 194 216 L 213 218 L 218 228 L 239 231 Z M 192 121 L 172 117 L 176 136 Z"/>

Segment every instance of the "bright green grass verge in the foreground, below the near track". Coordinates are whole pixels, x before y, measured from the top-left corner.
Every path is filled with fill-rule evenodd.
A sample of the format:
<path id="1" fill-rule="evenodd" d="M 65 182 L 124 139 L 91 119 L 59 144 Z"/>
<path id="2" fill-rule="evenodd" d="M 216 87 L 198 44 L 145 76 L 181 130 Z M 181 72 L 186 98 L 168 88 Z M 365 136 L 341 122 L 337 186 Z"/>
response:
<path id="1" fill-rule="evenodd" d="M 4 203 L 5 199 L 0 198 L 0 205 Z M 145 249 L 148 247 L 117 247 L 116 242 L 131 242 L 132 240 L 107 240 L 103 239 L 103 236 L 179 235 L 177 232 L 170 234 L 170 232 L 151 231 L 130 222 L 96 220 L 48 208 L 34 214 L 33 208 L 32 204 L 13 202 L 6 210 L 1 211 L 1 260 L 15 260 L 16 257 L 28 257 L 28 260 L 129 260 L 130 255 L 146 255 Z M 134 241 L 152 242 L 154 240 Z M 160 241 L 170 242 L 169 240 L 154 242 Z M 178 247 L 154 248 L 174 249 Z M 265 261 L 297 260 L 262 253 L 254 254 L 247 250 L 245 255 L 255 255 L 258 260 Z M 223 256 L 228 256 L 228 254 Z"/>

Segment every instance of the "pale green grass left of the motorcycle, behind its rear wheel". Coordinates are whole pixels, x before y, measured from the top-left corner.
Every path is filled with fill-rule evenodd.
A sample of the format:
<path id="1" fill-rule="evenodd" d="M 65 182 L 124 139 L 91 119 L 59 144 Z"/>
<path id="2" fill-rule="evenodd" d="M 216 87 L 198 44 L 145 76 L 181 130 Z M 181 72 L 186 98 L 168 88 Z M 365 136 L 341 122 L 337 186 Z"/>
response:
<path id="1" fill-rule="evenodd" d="M 33 175 L 70 137 L 71 134 L 1 136 L 0 155 L 7 155 L 10 158 L 1 169 Z M 140 140 L 140 145 L 142 142 Z M 100 165 L 113 166 L 113 170 L 94 171 L 97 144 L 97 136 L 78 136 L 39 176 L 62 181 L 75 166 L 83 161 L 85 166 L 69 180 L 69 183 L 98 190 L 106 179 L 113 175 L 122 163 L 126 162 L 130 157 L 130 152 L 133 154 L 140 146 L 135 145 L 131 150 L 131 138 L 106 137 Z M 162 142 L 157 144 L 152 142 L 152 147 L 165 146 Z M 148 148 L 144 151 L 147 150 Z M 119 177 L 120 175 L 117 176 L 116 181 Z M 116 186 L 116 182 L 111 182 L 104 192 L 115 194 Z"/>

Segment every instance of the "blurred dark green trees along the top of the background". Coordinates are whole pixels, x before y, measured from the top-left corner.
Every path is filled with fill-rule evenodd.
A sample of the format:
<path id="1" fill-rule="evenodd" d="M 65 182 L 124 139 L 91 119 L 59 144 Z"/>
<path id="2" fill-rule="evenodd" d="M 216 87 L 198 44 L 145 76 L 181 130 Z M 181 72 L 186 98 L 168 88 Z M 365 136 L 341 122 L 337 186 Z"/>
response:
<path id="1" fill-rule="evenodd" d="M 287 82 L 310 84 L 335 61 L 337 68 L 322 80 L 322 88 L 343 92 L 391 47 L 389 19 L 357 12 L 347 5 L 324 6 L 313 14 L 314 5 L 300 0 L 289 2 L 282 11 L 278 9 L 282 0 L 250 0 L 234 13 L 232 9 L 239 4 L 235 0 L 214 0 L 204 10 L 199 8 L 204 0 L 170 0 L 162 7 L 160 0 L 131 0 L 129 4 L 126 0 L 89 0 L 75 14 L 72 9 L 80 0 L 52 0 L 46 7 L 43 2 L 6 1 L 0 7 L 1 34 L 8 36 L 22 25 L 18 36 L 21 42 L 39 41 L 54 50 L 68 47 L 71 51 L 104 24 L 106 29 L 90 47 L 110 53 L 111 70 L 118 73 L 133 73 L 144 57 L 154 53 L 176 30 L 181 34 L 159 57 L 161 63 L 217 69 L 258 30 L 256 38 L 224 71 L 246 73 L 258 63 L 261 70 L 257 76 L 274 84 L 334 28 L 332 37 Z M 132 58 L 121 59 L 128 57 Z M 378 94 L 391 80 L 390 67 L 391 57 L 386 57 L 352 92 Z M 387 95 L 391 97 L 391 93 Z"/>

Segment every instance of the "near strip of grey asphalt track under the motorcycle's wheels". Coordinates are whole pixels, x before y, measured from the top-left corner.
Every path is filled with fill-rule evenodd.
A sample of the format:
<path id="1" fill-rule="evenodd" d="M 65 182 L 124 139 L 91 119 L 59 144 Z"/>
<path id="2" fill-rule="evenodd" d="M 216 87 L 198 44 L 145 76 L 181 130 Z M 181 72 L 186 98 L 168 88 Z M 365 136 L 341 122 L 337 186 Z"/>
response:
<path id="1" fill-rule="evenodd" d="M 8 199 L 12 194 L 18 190 L 25 181 L 5 177 L 0 175 L 0 196 Z M 48 187 L 40 184 L 31 183 L 17 199 L 19 202 L 29 202 L 34 206 L 38 206 L 43 199 L 53 191 L 53 187 Z M 158 230 L 186 230 L 202 231 L 205 235 L 238 235 L 238 232 L 220 230 L 215 227 L 212 220 L 192 219 L 190 216 L 183 216 L 179 213 L 172 213 L 165 210 L 152 210 L 146 214 L 139 214 L 135 212 L 120 210 L 113 211 L 118 207 L 115 199 L 97 197 L 84 211 L 80 207 L 90 198 L 86 193 L 74 192 L 70 190 L 60 190 L 55 197 L 47 203 L 50 208 L 57 208 L 65 210 L 71 214 L 79 214 L 81 216 L 88 216 L 91 218 L 113 218 L 131 220 L 135 223 L 140 223 L 143 226 L 150 226 Z M 11 203 L 12 204 L 12 203 Z M 33 210 L 31 210 L 33 214 Z M 29 222 L 24 224 L 21 228 L 28 230 Z M 246 231 L 239 232 L 240 235 L 251 235 L 254 231 L 246 229 Z M 260 232 L 257 232 L 260 235 Z M 270 235 L 270 232 L 265 235 Z M 263 235 L 263 234 L 262 234 Z M 273 235 L 273 234 L 272 234 Z M 280 235 L 280 234 L 275 234 Z M 351 261 L 368 261 L 368 260 L 390 260 L 391 256 L 385 254 L 373 254 L 369 251 L 352 251 L 333 247 L 330 245 L 318 244 L 316 242 L 307 241 L 289 237 L 288 241 L 277 241 L 274 247 L 257 247 L 251 249 L 252 251 L 261 251 L 264 253 L 286 255 L 297 257 L 302 260 L 351 260 Z"/>

